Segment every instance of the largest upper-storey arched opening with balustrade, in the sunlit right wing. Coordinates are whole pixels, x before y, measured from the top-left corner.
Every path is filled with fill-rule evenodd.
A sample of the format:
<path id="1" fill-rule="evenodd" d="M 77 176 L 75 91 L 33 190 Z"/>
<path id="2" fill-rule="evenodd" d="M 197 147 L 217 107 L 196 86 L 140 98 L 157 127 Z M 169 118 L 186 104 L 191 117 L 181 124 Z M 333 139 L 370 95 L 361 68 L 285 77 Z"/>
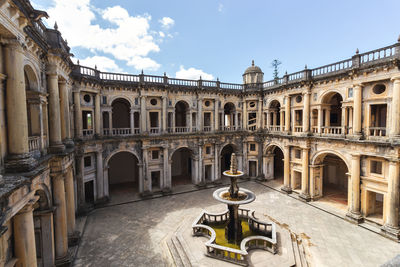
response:
<path id="1" fill-rule="evenodd" d="M 342 133 L 342 102 L 342 96 L 336 92 L 329 93 L 322 99 L 322 133 Z"/>

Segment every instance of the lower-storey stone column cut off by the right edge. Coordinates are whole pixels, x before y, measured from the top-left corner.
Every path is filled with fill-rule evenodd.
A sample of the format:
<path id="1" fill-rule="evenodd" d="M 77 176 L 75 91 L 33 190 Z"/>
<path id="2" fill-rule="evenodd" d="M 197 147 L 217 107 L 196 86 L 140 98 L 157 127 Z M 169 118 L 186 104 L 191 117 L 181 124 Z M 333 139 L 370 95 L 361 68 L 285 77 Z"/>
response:
<path id="1" fill-rule="evenodd" d="M 399 185 L 399 162 L 395 160 L 389 161 L 386 223 L 382 230 L 396 239 L 400 236 Z"/>

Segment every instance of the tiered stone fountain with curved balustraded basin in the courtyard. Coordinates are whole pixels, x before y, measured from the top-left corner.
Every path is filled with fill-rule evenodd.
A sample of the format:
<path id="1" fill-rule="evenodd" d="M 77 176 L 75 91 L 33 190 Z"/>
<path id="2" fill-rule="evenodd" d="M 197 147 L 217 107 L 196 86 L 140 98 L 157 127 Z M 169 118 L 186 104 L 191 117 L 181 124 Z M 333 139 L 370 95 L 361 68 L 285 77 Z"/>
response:
<path id="1" fill-rule="evenodd" d="M 229 187 L 214 191 L 213 197 L 227 204 L 228 210 L 212 214 L 203 211 L 192 225 L 194 236 L 208 236 L 207 256 L 240 265 L 248 265 L 248 250 L 260 248 L 277 252 L 276 226 L 254 217 L 254 211 L 239 208 L 256 199 L 250 190 L 239 188 L 237 179 L 243 172 L 237 169 L 236 155 L 231 156 L 230 169 L 223 172 L 230 178 Z"/>

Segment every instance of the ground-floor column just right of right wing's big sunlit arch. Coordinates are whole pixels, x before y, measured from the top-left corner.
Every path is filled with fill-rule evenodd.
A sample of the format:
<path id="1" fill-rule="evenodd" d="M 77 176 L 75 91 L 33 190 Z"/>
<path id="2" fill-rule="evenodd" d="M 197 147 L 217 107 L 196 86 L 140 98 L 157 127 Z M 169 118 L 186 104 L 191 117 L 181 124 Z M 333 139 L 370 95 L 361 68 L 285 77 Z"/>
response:
<path id="1" fill-rule="evenodd" d="M 349 212 L 347 218 L 352 221 L 360 222 L 362 217 L 360 213 L 360 155 L 351 155 L 351 199 L 349 203 Z"/>

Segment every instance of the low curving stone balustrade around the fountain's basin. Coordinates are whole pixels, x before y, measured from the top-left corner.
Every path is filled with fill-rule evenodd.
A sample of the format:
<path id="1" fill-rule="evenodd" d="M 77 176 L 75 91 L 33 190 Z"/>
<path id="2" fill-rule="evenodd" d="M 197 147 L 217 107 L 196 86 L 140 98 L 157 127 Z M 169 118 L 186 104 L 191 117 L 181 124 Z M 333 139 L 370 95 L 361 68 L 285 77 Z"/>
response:
<path id="1" fill-rule="evenodd" d="M 240 243 L 240 249 L 229 248 L 216 244 L 216 233 L 209 225 L 226 223 L 229 219 L 229 211 L 223 213 L 207 213 L 203 211 L 193 222 L 192 229 L 194 236 L 208 236 L 209 240 L 205 243 L 207 256 L 235 264 L 248 266 L 248 250 L 264 249 L 273 254 L 277 253 L 276 227 L 274 223 L 258 221 L 254 217 L 254 211 L 239 209 L 239 217 L 247 219 L 249 227 L 254 232 L 265 234 L 266 236 L 255 235 L 246 237 Z"/>

